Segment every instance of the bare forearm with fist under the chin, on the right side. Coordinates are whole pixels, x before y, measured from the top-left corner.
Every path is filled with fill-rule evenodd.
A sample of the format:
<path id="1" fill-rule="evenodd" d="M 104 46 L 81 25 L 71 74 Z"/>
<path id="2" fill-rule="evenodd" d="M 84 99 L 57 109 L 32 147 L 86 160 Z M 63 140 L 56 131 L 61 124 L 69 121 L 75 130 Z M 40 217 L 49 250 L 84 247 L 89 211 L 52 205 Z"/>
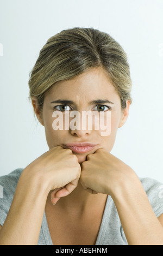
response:
<path id="1" fill-rule="evenodd" d="M 102 148 L 82 163 L 80 182 L 114 200 L 129 245 L 163 245 L 163 227 L 135 172 Z"/>

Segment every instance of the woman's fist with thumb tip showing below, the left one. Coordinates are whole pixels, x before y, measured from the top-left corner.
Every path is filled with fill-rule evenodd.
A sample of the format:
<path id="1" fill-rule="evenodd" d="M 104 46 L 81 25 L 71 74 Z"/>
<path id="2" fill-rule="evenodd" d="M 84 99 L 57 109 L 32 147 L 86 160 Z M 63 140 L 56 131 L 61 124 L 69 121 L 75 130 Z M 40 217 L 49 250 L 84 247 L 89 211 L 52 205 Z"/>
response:
<path id="1" fill-rule="evenodd" d="M 77 156 L 69 148 L 62 148 L 61 146 L 56 146 L 42 154 L 30 163 L 24 171 L 26 180 L 36 174 L 37 180 L 39 177 L 41 183 L 46 184 L 48 193 L 53 190 L 51 193 L 53 204 L 77 187 L 80 172 L 81 167 Z M 27 177 L 27 175 L 29 176 Z"/>

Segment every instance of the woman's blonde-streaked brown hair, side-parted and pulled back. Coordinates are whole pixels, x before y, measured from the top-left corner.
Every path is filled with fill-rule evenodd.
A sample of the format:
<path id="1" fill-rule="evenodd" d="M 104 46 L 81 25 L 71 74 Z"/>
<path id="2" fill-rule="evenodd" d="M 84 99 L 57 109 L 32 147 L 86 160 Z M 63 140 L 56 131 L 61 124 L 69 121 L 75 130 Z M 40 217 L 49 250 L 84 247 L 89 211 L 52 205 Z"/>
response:
<path id="1" fill-rule="evenodd" d="M 72 28 L 49 38 L 30 73 L 29 97 L 42 109 L 45 93 L 58 81 L 90 68 L 103 67 L 121 98 L 131 102 L 131 79 L 126 52 L 109 34 L 94 28 Z"/>

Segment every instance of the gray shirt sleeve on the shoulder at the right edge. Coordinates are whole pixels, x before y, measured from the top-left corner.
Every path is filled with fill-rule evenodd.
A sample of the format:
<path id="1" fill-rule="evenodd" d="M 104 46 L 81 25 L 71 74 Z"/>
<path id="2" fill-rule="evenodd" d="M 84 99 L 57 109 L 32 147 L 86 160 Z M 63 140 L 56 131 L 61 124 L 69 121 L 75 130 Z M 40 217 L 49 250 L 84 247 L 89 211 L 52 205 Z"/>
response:
<path id="1" fill-rule="evenodd" d="M 158 217 L 163 213 L 163 183 L 153 178 L 140 178 L 149 202 Z"/>

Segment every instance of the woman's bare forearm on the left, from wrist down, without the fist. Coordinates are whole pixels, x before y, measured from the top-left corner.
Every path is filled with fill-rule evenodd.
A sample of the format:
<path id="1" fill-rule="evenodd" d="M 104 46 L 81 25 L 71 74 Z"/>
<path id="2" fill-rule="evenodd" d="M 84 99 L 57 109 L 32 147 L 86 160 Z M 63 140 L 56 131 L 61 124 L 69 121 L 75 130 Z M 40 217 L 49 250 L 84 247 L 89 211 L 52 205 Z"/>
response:
<path id="1" fill-rule="evenodd" d="M 0 245 L 37 245 L 47 195 L 33 178 L 20 177 L 8 216 L 0 231 Z"/>

